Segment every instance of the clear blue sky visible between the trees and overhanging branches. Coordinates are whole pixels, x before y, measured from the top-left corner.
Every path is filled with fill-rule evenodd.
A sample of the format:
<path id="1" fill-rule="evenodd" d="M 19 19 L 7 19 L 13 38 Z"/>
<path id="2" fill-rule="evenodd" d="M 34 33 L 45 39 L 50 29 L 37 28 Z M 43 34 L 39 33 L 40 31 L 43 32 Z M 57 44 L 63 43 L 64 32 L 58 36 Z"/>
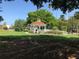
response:
<path id="1" fill-rule="evenodd" d="M 3 1 L 0 6 L 3 10 L 2 12 L 0 12 L 0 16 L 3 16 L 4 22 L 6 22 L 8 25 L 13 25 L 16 19 L 26 20 L 29 12 L 37 10 L 37 7 L 34 6 L 31 2 L 26 3 L 24 0 L 16 0 L 11 2 Z M 48 10 L 57 18 L 59 18 L 60 15 L 63 14 L 60 10 L 53 10 L 51 8 L 48 8 L 47 4 L 45 4 L 41 9 Z M 65 18 L 68 19 L 70 16 L 73 16 L 75 11 L 79 11 L 79 9 L 73 10 L 70 13 L 66 13 Z"/>

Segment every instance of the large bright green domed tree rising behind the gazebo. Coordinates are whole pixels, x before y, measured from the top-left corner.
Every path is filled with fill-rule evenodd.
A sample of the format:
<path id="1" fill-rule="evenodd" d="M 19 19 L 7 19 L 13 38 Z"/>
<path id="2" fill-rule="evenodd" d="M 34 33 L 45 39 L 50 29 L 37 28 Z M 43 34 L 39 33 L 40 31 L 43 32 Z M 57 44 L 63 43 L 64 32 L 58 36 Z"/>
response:
<path id="1" fill-rule="evenodd" d="M 35 22 L 37 20 L 41 20 L 42 22 L 49 24 L 51 26 L 56 26 L 57 25 L 57 20 L 50 12 L 47 10 L 37 10 L 35 12 L 30 12 L 28 14 L 27 18 L 27 24 L 31 24 L 32 22 Z"/>

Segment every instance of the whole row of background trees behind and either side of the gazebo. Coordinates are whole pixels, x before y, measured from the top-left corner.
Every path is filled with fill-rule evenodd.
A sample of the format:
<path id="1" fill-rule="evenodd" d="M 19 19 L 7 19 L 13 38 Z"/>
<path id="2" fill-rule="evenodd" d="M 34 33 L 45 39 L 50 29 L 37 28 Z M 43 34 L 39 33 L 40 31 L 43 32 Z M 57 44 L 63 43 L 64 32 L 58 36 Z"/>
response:
<path id="1" fill-rule="evenodd" d="M 26 29 L 28 24 L 37 21 L 38 18 L 40 18 L 42 22 L 46 23 L 47 28 L 49 29 L 68 32 L 79 31 L 79 12 L 75 12 L 74 16 L 66 20 L 64 15 L 60 15 L 60 18 L 57 19 L 51 12 L 43 9 L 29 12 L 26 20 L 16 20 L 14 28 L 16 31 L 23 31 Z"/>

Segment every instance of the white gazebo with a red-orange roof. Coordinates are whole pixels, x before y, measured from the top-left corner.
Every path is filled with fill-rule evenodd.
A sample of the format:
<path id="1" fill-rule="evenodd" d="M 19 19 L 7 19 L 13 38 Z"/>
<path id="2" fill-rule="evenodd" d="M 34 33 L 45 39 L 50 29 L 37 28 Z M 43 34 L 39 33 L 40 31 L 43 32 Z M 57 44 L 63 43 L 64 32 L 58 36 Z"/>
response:
<path id="1" fill-rule="evenodd" d="M 46 24 L 44 22 L 41 22 L 41 20 L 38 20 L 36 22 L 32 22 L 30 24 L 30 30 L 33 33 L 42 33 L 46 31 Z"/>

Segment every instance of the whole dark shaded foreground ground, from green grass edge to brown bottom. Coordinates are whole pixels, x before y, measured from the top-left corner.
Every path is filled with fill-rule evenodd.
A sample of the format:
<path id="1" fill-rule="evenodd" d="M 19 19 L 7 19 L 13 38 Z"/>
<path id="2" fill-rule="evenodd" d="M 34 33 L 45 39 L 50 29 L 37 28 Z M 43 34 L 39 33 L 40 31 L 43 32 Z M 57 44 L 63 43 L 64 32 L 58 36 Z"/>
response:
<path id="1" fill-rule="evenodd" d="M 0 36 L 0 59 L 78 58 L 79 38 L 52 35 Z"/>

